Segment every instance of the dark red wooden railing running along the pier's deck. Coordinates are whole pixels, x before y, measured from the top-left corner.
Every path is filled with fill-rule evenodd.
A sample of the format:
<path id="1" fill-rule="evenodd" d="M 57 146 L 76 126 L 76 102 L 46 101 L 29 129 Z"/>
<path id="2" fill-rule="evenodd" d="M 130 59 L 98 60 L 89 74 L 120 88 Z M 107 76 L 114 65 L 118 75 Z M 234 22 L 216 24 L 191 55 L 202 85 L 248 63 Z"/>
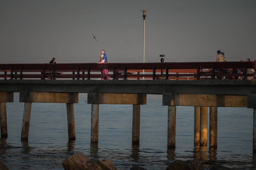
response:
<path id="1" fill-rule="evenodd" d="M 247 77 L 247 69 L 254 69 L 256 62 L 176 62 L 176 63 L 58 63 L 58 64 L 0 64 L 3 79 L 205 79 L 211 77 Z M 203 72 L 202 69 L 244 69 L 244 74 Z M 101 74 L 108 69 L 109 74 Z M 142 70 L 145 74 L 141 74 Z M 256 76 L 256 74 L 255 74 Z"/>

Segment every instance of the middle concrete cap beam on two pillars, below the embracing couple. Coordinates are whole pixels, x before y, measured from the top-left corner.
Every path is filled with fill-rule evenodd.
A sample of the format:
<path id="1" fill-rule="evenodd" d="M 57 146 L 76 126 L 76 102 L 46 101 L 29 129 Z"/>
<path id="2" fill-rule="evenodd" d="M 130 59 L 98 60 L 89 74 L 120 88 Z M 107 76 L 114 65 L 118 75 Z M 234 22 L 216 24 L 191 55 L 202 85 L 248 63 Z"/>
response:
<path id="1" fill-rule="evenodd" d="M 146 94 L 88 93 L 88 104 L 147 104 Z"/>

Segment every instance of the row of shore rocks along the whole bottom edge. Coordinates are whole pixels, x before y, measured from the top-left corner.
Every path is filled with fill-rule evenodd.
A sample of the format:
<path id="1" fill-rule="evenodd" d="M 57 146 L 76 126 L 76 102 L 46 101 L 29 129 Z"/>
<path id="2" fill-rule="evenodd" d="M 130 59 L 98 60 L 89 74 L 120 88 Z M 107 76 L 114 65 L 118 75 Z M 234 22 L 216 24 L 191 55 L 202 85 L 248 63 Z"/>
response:
<path id="1" fill-rule="evenodd" d="M 116 170 L 111 160 L 89 159 L 88 156 L 77 153 L 71 155 L 63 161 L 65 170 Z M 5 164 L 0 162 L 0 170 L 8 170 Z M 146 170 L 145 168 L 134 165 L 130 170 Z M 195 160 L 175 160 L 166 170 L 203 170 L 201 163 Z M 210 170 L 231 170 L 222 165 L 213 165 Z"/>

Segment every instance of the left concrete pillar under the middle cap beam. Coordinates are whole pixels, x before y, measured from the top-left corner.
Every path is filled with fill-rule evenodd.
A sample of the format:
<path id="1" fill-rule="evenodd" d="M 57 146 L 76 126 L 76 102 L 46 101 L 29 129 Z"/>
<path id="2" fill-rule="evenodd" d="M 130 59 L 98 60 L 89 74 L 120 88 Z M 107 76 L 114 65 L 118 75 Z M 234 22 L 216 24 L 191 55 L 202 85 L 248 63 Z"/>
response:
<path id="1" fill-rule="evenodd" d="M 91 143 L 99 141 L 99 104 L 91 104 Z"/>

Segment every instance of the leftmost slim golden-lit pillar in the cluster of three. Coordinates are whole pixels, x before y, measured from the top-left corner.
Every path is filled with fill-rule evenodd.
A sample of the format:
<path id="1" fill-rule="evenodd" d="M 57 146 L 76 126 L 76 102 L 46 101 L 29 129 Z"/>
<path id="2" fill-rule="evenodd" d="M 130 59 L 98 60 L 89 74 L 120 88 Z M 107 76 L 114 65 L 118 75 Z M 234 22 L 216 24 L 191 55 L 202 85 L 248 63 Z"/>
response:
<path id="1" fill-rule="evenodd" d="M 199 141 L 200 141 L 200 107 L 195 106 L 194 146 L 199 146 Z"/>

